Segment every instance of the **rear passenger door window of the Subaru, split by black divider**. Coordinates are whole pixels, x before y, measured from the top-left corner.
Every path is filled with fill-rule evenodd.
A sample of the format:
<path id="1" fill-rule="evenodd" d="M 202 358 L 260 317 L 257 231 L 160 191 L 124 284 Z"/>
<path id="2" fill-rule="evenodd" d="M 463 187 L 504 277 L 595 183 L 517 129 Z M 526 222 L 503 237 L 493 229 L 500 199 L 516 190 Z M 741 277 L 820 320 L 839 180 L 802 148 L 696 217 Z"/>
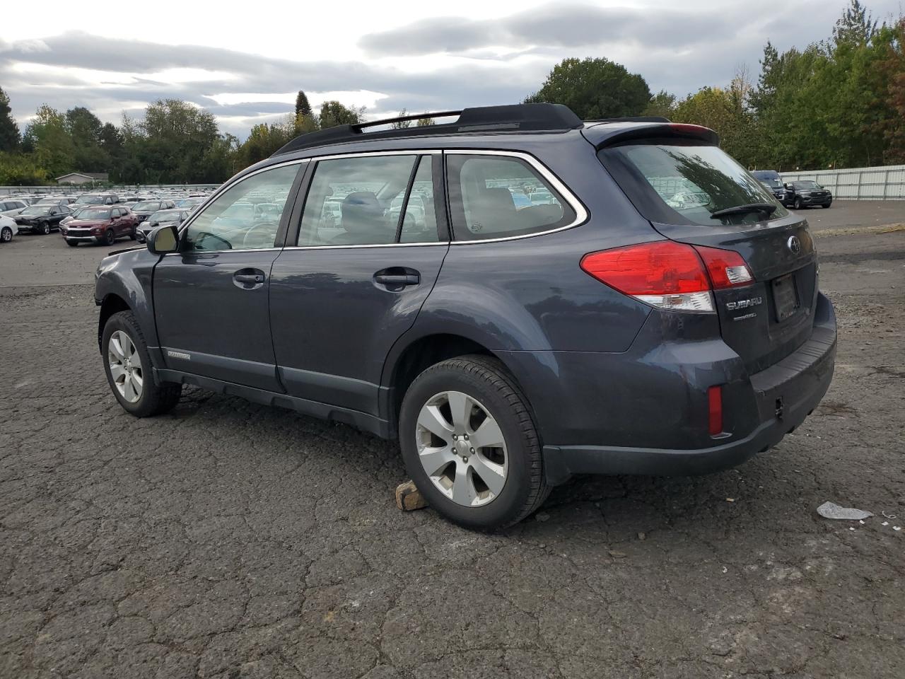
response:
<path id="1" fill-rule="evenodd" d="M 297 244 L 435 243 L 431 162 L 416 155 L 321 160 Z"/>

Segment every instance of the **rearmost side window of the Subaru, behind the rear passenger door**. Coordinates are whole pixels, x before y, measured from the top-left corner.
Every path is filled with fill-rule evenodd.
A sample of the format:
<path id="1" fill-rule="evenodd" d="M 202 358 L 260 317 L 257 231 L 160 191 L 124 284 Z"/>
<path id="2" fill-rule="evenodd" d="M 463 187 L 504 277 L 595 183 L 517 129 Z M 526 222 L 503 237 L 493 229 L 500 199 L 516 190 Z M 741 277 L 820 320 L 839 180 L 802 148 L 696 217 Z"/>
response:
<path id="1" fill-rule="evenodd" d="M 575 219 L 556 189 L 521 158 L 451 154 L 446 167 L 457 241 L 538 234 Z"/>

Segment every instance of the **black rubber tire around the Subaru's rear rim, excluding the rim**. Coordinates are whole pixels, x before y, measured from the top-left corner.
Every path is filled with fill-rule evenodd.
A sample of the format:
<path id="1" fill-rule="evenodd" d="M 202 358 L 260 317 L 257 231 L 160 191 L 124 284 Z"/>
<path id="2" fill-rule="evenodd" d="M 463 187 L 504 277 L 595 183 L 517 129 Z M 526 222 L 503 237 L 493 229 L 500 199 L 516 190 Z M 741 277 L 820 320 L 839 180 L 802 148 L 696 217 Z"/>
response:
<path id="1" fill-rule="evenodd" d="M 508 472 L 500 494 L 479 507 L 452 502 L 431 481 L 419 461 L 416 424 L 434 395 L 461 391 L 485 406 L 506 442 Z M 499 530 L 518 523 L 547 499 L 549 487 L 537 429 L 525 398 L 500 361 L 482 355 L 447 359 L 424 370 L 408 387 L 399 414 L 399 440 L 405 467 L 424 499 L 444 517 L 466 528 Z"/>

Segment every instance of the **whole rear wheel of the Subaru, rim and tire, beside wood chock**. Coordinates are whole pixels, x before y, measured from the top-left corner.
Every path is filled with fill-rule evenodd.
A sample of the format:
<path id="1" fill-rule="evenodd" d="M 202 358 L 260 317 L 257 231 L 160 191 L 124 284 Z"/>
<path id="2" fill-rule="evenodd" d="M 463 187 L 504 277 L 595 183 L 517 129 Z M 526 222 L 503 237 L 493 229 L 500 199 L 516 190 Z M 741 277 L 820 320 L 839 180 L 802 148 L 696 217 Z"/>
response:
<path id="1" fill-rule="evenodd" d="M 496 359 L 462 356 L 424 370 L 405 392 L 399 439 L 424 499 L 462 526 L 511 526 L 549 493 L 527 401 Z"/>

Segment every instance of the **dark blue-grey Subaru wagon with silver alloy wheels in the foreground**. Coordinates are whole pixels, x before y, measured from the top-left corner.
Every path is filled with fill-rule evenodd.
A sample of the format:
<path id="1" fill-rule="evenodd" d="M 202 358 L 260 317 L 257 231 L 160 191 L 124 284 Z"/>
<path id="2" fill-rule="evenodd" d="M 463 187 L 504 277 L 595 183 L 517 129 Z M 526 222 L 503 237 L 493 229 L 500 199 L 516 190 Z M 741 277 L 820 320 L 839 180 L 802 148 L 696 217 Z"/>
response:
<path id="1" fill-rule="evenodd" d="M 129 413 L 191 384 L 398 438 L 437 511 L 492 528 L 576 473 L 739 464 L 824 396 L 807 223 L 710 129 L 552 104 L 379 124 L 294 139 L 100 263 Z"/>

